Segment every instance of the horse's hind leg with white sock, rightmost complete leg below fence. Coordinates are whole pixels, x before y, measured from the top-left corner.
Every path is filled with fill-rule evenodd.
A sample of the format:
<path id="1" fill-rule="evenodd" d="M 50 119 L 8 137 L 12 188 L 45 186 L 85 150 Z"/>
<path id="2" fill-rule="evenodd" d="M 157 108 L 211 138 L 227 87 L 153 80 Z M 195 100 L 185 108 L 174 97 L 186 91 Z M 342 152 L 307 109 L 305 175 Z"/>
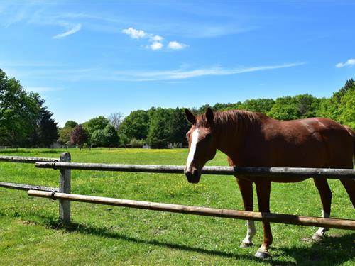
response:
<path id="1" fill-rule="evenodd" d="M 330 216 L 330 206 L 332 204 L 332 192 L 330 191 L 327 179 L 313 179 L 315 181 L 315 186 L 318 189 L 318 192 L 320 192 L 320 199 L 322 201 L 322 206 L 323 206 L 323 217 L 324 218 L 329 218 Z M 324 238 L 325 232 L 327 232 L 329 228 L 324 228 L 320 227 L 318 228 L 317 232 L 315 232 L 312 236 L 312 239 L 314 240 L 321 240 Z"/>

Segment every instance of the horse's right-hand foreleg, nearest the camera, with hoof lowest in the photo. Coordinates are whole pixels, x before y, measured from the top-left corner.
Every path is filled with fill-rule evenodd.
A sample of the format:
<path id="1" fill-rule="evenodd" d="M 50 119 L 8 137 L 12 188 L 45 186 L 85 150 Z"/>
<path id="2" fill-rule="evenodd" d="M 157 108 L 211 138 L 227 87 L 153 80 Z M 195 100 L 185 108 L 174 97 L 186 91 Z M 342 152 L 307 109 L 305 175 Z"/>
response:
<path id="1" fill-rule="evenodd" d="M 270 181 L 258 181 L 256 184 L 256 193 L 258 194 L 258 206 L 261 212 L 270 212 Z M 255 256 L 261 259 L 270 257 L 268 247 L 273 243 L 273 234 L 271 233 L 270 223 L 263 222 L 263 244 L 255 253 Z"/>

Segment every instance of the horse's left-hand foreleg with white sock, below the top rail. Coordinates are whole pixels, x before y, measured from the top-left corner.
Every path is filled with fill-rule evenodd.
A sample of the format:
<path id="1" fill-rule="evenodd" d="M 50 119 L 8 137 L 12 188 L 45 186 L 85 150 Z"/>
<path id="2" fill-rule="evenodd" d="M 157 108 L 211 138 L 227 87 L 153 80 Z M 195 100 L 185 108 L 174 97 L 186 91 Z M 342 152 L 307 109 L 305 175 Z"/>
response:
<path id="1" fill-rule="evenodd" d="M 239 189 L 241 190 L 241 197 L 243 198 L 244 210 L 253 211 L 253 182 L 245 179 L 236 179 Z M 246 221 L 246 237 L 241 241 L 241 248 L 247 248 L 253 245 L 253 237 L 256 234 L 254 221 Z"/>

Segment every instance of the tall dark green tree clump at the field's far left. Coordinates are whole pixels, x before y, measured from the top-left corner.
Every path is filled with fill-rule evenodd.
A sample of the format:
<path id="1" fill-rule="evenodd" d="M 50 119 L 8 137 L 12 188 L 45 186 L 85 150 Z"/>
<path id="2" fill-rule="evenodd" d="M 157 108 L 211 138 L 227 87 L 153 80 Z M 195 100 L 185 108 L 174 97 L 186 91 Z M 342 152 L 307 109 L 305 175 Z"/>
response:
<path id="1" fill-rule="evenodd" d="M 58 123 L 35 92 L 0 69 L 0 145 L 48 147 L 58 139 Z"/>

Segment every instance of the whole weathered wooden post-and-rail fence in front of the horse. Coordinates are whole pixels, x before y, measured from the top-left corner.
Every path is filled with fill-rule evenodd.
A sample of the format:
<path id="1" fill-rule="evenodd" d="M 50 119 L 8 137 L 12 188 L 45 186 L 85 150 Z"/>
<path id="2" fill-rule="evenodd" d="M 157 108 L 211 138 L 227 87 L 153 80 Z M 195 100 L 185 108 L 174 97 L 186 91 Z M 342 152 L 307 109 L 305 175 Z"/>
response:
<path id="1" fill-rule="evenodd" d="M 340 218 L 321 218 L 313 216 L 295 216 L 289 214 L 272 214 L 253 211 L 236 211 L 231 209 L 212 209 L 200 206 L 163 204 L 151 201 L 133 201 L 129 199 L 112 199 L 100 196 L 85 196 L 71 193 L 71 170 L 94 170 L 116 172 L 154 172 L 165 174 L 183 174 L 183 166 L 178 165 L 114 165 L 71 162 L 70 153 L 62 153 L 59 159 L 39 157 L 0 156 L 0 162 L 35 163 L 35 167 L 59 170 L 59 187 L 41 187 L 29 184 L 0 182 L 0 187 L 28 190 L 29 196 L 59 199 L 59 218 L 62 226 L 70 225 L 70 201 L 81 201 L 92 204 L 124 206 L 136 209 L 170 211 L 182 214 L 201 216 L 217 216 L 244 220 L 268 221 L 272 223 L 288 223 L 301 226 L 322 226 L 326 228 L 342 228 L 355 230 L 355 221 Z M 202 174 L 217 175 L 252 175 L 253 177 L 313 177 L 333 179 L 355 179 L 355 170 L 293 168 L 293 167 L 203 167 Z"/>

